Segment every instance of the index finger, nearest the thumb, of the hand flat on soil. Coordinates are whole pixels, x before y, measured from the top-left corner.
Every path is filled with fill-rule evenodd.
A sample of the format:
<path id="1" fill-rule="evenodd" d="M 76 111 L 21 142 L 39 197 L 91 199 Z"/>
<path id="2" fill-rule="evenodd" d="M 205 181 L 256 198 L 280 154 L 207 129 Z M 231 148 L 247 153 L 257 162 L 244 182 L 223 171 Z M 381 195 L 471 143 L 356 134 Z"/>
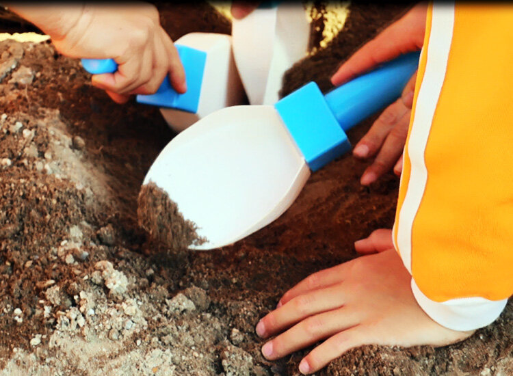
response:
<path id="1" fill-rule="evenodd" d="M 287 301 L 297 297 L 298 295 L 302 295 L 308 291 L 315 291 L 319 288 L 342 282 L 346 268 L 346 263 L 344 263 L 311 274 L 293 286 L 293 288 L 291 288 L 285 294 L 283 294 L 280 301 L 278 302 L 278 308 L 283 304 L 286 304 Z"/>

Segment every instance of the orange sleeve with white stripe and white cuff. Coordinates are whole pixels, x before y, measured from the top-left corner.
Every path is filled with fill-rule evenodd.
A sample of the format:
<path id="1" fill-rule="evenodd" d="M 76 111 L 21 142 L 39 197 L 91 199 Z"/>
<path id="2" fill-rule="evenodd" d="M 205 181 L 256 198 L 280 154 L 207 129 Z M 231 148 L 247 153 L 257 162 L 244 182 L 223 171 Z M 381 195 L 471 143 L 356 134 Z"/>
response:
<path id="1" fill-rule="evenodd" d="M 417 302 L 473 330 L 513 293 L 513 5 L 435 3 L 393 239 Z"/>

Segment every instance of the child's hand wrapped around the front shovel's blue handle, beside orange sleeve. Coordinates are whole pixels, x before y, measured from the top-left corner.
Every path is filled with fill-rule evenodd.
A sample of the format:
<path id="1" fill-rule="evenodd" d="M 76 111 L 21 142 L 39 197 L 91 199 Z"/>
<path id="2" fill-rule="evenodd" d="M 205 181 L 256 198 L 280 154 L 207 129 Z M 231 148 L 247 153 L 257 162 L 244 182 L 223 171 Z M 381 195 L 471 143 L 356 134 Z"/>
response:
<path id="1" fill-rule="evenodd" d="M 383 62 L 421 49 L 426 12 L 427 4 L 415 5 L 347 59 L 331 78 L 332 83 L 341 85 Z M 395 174 L 402 172 L 401 155 L 408 133 L 414 89 L 415 76 L 406 85 L 402 97 L 383 111 L 369 132 L 354 147 L 355 157 L 370 158 L 377 155 L 362 175 L 360 182 L 363 185 L 373 183 L 391 167 L 395 166 Z"/>

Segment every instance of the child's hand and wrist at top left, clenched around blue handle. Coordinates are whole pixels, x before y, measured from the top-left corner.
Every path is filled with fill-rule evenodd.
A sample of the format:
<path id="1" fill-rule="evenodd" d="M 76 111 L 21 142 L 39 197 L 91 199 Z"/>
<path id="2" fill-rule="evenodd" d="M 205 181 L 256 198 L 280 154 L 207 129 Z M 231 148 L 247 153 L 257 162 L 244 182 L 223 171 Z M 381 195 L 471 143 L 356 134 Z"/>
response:
<path id="1" fill-rule="evenodd" d="M 57 51 L 69 57 L 113 58 L 114 74 L 94 75 L 92 84 L 124 103 L 131 94 L 155 93 L 166 75 L 185 92 L 178 51 L 149 3 L 127 5 L 13 4 L 12 10 L 51 36 Z"/>

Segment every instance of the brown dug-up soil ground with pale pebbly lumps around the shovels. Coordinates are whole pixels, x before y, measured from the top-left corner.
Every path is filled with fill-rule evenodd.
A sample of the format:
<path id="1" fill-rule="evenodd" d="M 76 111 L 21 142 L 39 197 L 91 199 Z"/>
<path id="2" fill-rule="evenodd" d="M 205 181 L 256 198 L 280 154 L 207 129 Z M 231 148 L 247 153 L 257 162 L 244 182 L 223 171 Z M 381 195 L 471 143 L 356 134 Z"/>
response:
<path id="1" fill-rule="evenodd" d="M 339 36 L 287 72 L 283 94 L 311 80 L 329 90 L 337 65 L 405 6 L 351 5 Z M 208 5 L 159 8 L 173 39 L 229 32 Z M 111 102 L 49 43 L 1 42 L 0 77 L 0 375 L 298 375 L 308 349 L 268 362 L 254 325 L 288 288 L 393 224 L 398 179 L 362 187 L 368 163 L 345 155 L 250 237 L 159 251 L 137 225 L 144 175 L 174 136 L 158 109 Z M 512 353 L 510 301 L 462 343 L 364 346 L 316 374 L 512 375 Z"/>

